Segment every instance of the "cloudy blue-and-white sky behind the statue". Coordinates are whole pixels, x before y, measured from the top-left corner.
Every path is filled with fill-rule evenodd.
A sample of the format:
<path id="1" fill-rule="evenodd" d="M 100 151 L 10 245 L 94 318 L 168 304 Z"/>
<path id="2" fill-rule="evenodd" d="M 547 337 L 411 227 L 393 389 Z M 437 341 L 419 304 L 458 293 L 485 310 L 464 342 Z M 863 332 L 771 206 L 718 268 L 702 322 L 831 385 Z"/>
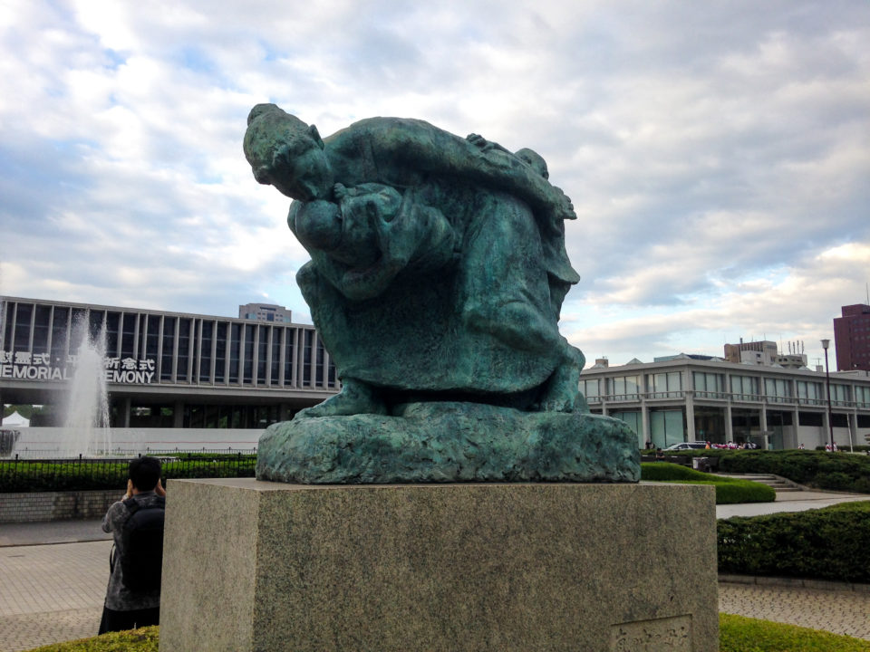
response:
<path id="1" fill-rule="evenodd" d="M 866 301 L 866 0 L 0 0 L 0 49 L 0 294 L 307 320 L 241 150 L 273 101 L 539 151 L 590 362 L 766 337 L 814 364 Z"/>

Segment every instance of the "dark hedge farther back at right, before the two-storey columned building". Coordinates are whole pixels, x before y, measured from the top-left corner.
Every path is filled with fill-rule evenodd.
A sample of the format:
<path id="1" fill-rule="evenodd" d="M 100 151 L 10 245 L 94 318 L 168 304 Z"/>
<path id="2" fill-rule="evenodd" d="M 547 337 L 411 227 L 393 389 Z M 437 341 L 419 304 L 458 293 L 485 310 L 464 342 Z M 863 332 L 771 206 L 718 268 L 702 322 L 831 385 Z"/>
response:
<path id="1" fill-rule="evenodd" d="M 774 474 L 817 489 L 870 494 L 870 455 L 810 450 L 689 450 L 675 455 L 719 457 L 723 473 Z"/>

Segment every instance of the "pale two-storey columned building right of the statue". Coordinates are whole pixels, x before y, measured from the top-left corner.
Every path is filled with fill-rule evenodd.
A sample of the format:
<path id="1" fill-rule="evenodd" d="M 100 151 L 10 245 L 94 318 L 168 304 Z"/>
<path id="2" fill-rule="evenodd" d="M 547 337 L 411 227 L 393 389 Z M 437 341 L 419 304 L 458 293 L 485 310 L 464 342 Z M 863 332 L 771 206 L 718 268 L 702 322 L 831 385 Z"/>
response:
<path id="1" fill-rule="evenodd" d="M 829 441 L 824 372 L 695 360 L 637 362 L 585 369 L 580 389 L 594 413 L 623 419 L 638 445 L 753 440 L 768 448 L 807 448 Z M 870 436 L 870 374 L 831 374 L 838 447 Z"/>

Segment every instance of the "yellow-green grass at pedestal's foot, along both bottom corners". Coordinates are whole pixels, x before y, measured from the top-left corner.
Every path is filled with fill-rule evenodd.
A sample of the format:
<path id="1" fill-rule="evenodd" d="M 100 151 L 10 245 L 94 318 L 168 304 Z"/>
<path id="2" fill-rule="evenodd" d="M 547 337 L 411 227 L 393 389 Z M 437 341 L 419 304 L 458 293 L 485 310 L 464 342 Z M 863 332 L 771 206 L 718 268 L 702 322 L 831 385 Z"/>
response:
<path id="1" fill-rule="evenodd" d="M 160 628 L 37 647 L 32 652 L 158 652 Z M 720 652 L 870 652 L 870 641 L 769 620 L 719 615 Z"/>

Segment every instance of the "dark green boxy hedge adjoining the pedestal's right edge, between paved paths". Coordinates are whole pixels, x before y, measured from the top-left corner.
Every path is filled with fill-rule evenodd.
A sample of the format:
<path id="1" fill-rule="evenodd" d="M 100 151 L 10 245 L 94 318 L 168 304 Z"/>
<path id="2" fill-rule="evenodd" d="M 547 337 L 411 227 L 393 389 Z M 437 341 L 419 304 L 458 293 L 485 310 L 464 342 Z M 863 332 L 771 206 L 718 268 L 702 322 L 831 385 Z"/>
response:
<path id="1" fill-rule="evenodd" d="M 870 501 L 717 522 L 719 571 L 870 583 Z"/>

